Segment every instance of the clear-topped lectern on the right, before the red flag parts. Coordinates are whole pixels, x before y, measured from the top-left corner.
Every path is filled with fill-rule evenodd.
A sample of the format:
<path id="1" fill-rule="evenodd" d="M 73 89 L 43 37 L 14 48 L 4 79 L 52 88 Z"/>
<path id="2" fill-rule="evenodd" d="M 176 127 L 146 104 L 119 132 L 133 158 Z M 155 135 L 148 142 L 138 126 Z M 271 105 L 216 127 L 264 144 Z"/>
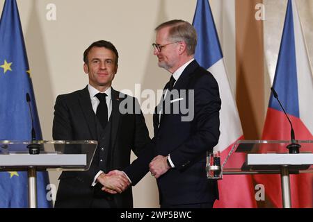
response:
<path id="1" fill-rule="evenodd" d="M 313 141 L 297 140 L 300 153 L 289 153 L 291 141 L 239 140 L 222 164 L 223 174 L 278 173 L 281 178 L 282 203 L 291 207 L 291 173 L 313 173 Z"/>

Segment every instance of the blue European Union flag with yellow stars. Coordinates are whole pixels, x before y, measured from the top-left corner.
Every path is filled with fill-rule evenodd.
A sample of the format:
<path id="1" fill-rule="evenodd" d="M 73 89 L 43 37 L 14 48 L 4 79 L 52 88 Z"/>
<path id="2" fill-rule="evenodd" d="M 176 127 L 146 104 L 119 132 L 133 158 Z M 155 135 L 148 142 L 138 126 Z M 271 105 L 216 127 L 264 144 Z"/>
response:
<path id="1" fill-rule="evenodd" d="M 0 140 L 31 140 L 27 92 L 39 140 L 42 135 L 17 3 L 6 0 L 0 19 Z M 46 197 L 48 183 L 47 172 L 37 173 L 38 207 L 51 207 Z M 26 172 L 1 172 L 0 207 L 28 207 L 27 184 Z"/>

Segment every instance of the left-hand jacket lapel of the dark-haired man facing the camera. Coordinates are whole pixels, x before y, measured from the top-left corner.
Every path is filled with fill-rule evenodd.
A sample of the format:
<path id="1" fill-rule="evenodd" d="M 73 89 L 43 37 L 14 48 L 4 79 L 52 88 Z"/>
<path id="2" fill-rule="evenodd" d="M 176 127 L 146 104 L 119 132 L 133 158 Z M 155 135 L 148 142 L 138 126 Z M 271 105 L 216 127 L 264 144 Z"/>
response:
<path id="1" fill-rule="evenodd" d="M 97 139 L 96 116 L 95 112 L 93 112 L 93 106 L 91 105 L 88 87 L 81 89 L 79 93 L 79 105 L 81 106 L 81 110 L 83 110 L 83 115 L 86 119 L 90 135 L 94 139 Z"/>

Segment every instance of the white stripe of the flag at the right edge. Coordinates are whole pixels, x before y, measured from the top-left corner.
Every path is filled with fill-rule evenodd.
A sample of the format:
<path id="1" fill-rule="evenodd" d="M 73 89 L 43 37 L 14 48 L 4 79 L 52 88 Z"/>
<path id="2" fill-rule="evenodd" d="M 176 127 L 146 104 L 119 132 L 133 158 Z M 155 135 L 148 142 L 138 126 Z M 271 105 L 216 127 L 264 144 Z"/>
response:
<path id="1" fill-rule="evenodd" d="M 307 53 L 303 29 L 300 24 L 298 8 L 296 2 L 292 1 L 292 9 L 294 11 L 294 38 L 296 44 L 296 64 L 298 76 L 298 99 L 300 119 L 310 133 L 313 135 L 313 102 L 307 101 L 308 98 L 313 99 L 313 78 L 310 60 Z"/>

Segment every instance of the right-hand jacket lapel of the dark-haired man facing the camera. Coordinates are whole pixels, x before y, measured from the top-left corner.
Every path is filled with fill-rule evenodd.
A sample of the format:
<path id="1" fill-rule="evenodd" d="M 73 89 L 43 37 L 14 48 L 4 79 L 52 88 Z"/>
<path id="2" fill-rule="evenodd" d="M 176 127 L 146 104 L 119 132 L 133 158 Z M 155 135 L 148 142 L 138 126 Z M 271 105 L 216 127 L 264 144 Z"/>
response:
<path id="1" fill-rule="evenodd" d="M 111 99 L 112 99 L 112 113 L 111 113 L 111 121 L 112 121 L 112 128 L 111 128 L 111 143 L 112 148 L 114 147 L 116 136 L 118 133 L 118 126 L 120 122 L 120 96 L 119 92 L 115 91 L 113 88 L 111 90 Z"/>

